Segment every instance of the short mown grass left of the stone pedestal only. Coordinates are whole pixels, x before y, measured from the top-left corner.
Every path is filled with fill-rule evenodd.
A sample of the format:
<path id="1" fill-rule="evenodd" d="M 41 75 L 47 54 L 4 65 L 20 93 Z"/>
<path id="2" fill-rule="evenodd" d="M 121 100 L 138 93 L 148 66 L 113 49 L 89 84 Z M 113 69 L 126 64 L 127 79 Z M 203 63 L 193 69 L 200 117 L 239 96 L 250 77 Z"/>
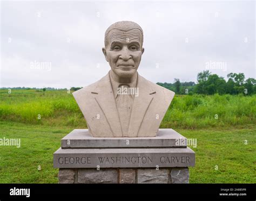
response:
<path id="1" fill-rule="evenodd" d="M 53 153 L 71 130 L 1 121 L 0 138 L 21 138 L 21 147 L 0 146 L 0 183 L 58 183 Z"/>

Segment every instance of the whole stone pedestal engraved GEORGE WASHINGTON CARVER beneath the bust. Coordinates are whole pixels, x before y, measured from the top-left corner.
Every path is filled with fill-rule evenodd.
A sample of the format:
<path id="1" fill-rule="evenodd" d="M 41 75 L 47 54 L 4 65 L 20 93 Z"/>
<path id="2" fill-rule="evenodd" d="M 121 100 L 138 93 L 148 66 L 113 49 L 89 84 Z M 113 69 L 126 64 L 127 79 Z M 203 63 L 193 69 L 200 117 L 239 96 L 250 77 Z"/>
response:
<path id="1" fill-rule="evenodd" d="M 194 151 L 173 129 L 156 137 L 92 137 L 75 129 L 53 154 L 59 183 L 188 183 Z"/>

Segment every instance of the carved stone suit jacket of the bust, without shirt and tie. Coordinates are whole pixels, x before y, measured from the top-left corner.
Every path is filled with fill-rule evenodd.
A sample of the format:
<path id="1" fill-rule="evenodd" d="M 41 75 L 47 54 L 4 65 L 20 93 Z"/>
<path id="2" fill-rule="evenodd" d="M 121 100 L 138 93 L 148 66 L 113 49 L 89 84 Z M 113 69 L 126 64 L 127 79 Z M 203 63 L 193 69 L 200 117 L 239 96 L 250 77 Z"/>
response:
<path id="1" fill-rule="evenodd" d="M 128 136 L 123 136 L 109 73 L 99 81 L 73 92 L 93 137 L 156 136 L 174 92 L 138 74 L 139 95 L 134 96 Z"/>

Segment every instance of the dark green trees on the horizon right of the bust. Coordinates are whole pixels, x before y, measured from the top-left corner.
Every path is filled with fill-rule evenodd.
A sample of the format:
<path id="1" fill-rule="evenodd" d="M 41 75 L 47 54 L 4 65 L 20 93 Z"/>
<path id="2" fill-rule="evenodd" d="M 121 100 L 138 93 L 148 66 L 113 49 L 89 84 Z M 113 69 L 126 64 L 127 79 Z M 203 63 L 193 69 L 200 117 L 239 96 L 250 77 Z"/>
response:
<path id="1" fill-rule="evenodd" d="M 174 79 L 174 83 L 161 83 L 163 86 L 177 94 L 245 94 L 252 95 L 256 93 L 256 80 L 254 78 L 245 79 L 244 73 L 229 73 L 228 80 L 212 74 L 210 71 L 203 71 L 197 75 L 197 84 L 195 82 L 180 82 Z"/>

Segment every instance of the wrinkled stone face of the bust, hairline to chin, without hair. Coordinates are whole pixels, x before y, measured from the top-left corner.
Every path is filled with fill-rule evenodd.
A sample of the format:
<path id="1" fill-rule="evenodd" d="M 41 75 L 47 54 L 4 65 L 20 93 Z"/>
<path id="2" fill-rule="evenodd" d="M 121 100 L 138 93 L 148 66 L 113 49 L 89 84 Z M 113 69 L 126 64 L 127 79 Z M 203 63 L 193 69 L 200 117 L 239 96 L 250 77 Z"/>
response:
<path id="1" fill-rule="evenodd" d="M 137 29 L 127 32 L 111 30 L 108 43 L 102 48 L 112 71 L 120 78 L 131 78 L 137 71 L 144 48 L 141 33 Z"/>

